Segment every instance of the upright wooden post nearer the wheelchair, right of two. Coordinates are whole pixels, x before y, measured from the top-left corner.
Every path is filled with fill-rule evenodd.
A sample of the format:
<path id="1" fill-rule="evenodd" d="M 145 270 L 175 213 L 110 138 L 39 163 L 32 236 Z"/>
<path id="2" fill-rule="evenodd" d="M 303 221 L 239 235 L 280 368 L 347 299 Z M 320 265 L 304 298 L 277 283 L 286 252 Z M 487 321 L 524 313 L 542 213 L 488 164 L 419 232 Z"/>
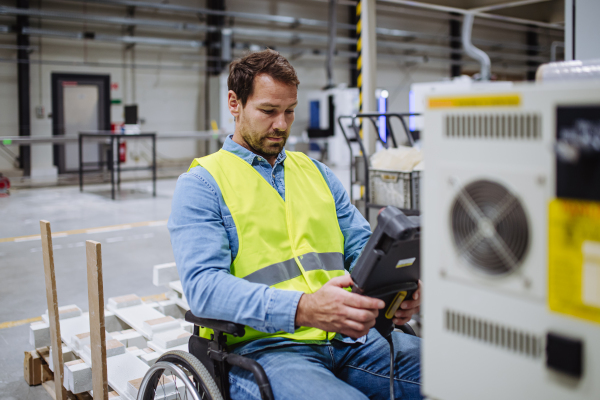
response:
<path id="1" fill-rule="evenodd" d="M 104 284 L 100 243 L 85 242 L 88 267 L 88 303 L 90 307 L 90 348 L 92 350 L 92 382 L 94 399 L 108 400 L 106 371 L 106 334 L 104 325 Z"/>

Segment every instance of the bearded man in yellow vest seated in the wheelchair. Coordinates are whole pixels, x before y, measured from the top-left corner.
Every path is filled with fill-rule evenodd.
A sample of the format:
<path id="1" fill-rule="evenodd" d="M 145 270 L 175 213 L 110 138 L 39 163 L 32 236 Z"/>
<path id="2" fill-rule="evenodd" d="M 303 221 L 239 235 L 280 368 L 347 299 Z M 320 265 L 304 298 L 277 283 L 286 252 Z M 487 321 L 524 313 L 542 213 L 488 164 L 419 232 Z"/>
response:
<path id="1" fill-rule="evenodd" d="M 325 165 L 284 150 L 298 84 L 275 51 L 232 62 L 235 133 L 194 160 L 173 197 L 179 276 L 195 315 L 246 325 L 227 343 L 263 366 L 276 399 L 387 399 L 389 345 L 370 329 L 384 304 L 344 289 L 369 224 Z M 419 305 L 420 290 L 394 322 Z M 393 340 L 396 397 L 420 399 L 420 339 Z M 229 380 L 233 399 L 260 399 L 251 373 Z"/>

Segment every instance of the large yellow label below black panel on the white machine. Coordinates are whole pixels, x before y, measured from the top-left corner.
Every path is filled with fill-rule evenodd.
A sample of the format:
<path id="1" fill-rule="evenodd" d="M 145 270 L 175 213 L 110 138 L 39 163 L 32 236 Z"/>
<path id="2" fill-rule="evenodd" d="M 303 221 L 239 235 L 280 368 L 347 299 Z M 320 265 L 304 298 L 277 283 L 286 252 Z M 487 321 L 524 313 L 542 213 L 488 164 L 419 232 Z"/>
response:
<path id="1" fill-rule="evenodd" d="M 550 310 L 600 323 L 600 203 L 550 202 Z"/>

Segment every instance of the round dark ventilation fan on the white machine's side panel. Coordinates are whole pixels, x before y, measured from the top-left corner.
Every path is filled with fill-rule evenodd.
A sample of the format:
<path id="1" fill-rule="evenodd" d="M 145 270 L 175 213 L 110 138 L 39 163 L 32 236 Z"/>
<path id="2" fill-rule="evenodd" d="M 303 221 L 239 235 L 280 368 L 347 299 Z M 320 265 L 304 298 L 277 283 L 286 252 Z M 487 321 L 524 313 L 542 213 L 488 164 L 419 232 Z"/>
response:
<path id="1" fill-rule="evenodd" d="M 478 180 L 460 190 L 452 205 L 452 233 L 458 253 L 489 275 L 521 265 L 529 227 L 519 199 L 499 183 Z"/>

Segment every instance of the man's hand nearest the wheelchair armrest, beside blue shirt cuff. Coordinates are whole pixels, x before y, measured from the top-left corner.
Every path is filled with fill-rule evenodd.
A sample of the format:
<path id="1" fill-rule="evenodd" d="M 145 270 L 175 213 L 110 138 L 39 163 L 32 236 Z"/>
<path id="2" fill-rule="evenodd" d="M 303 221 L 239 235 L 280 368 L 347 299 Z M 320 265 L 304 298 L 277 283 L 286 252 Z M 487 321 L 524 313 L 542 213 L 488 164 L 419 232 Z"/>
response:
<path id="1" fill-rule="evenodd" d="M 315 293 L 304 293 L 296 310 L 296 326 L 310 326 L 357 339 L 375 326 L 382 300 L 350 293 L 350 275 L 330 279 Z"/>

